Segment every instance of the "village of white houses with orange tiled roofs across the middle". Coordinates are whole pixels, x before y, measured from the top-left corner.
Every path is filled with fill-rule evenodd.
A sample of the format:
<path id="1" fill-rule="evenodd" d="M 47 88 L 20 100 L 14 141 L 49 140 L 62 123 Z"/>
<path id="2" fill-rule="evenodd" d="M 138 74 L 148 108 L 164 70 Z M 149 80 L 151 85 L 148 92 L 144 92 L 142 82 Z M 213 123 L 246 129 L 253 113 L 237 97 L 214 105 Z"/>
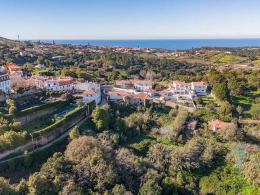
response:
<path id="1" fill-rule="evenodd" d="M 45 68 L 43 64 L 35 65 L 35 68 Z M 167 89 L 155 90 L 154 84 L 150 80 L 140 80 L 137 78 L 127 80 L 116 80 L 115 84 L 99 84 L 92 81 L 82 81 L 70 76 L 54 77 L 33 74 L 23 76 L 20 66 L 14 63 L 8 63 L 0 67 L 0 89 L 11 95 L 13 87 L 33 88 L 30 94 L 38 91 L 45 91 L 49 94 L 59 92 L 70 92 L 77 99 L 74 102 L 83 105 L 84 103 L 94 100 L 99 104 L 101 98 L 107 98 L 117 104 L 130 104 L 133 106 L 155 107 L 180 106 L 188 111 L 202 108 L 201 104 L 195 102 L 200 96 L 210 96 L 207 91 L 207 85 L 203 81 L 185 81 L 174 80 L 168 85 Z M 52 93 L 51 93 L 52 92 Z M 103 97 L 102 95 L 103 94 Z M 79 103 L 80 102 L 80 103 Z M 195 103 L 194 103 L 195 102 Z M 218 109 L 217 105 L 214 109 Z M 231 122 L 224 122 L 218 118 L 212 118 L 208 125 L 212 130 L 230 125 Z M 197 120 L 191 118 L 187 123 L 187 131 L 196 133 Z"/>

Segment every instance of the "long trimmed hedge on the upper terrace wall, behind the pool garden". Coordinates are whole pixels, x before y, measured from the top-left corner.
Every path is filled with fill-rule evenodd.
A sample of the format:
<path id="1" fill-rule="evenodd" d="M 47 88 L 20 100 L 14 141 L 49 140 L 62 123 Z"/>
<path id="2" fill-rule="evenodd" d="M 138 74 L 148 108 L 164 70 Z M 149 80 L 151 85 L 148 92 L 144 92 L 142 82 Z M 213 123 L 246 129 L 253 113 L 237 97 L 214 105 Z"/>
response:
<path id="1" fill-rule="evenodd" d="M 57 101 L 53 101 L 52 103 L 45 103 L 45 104 L 41 104 L 41 105 L 35 105 L 33 107 L 29 107 L 27 109 L 23 109 L 23 110 L 21 110 L 19 112 L 13 113 L 13 114 L 6 114 L 5 116 L 8 119 L 11 119 L 11 118 L 15 118 L 15 117 L 31 114 L 32 112 L 43 110 L 43 109 L 47 109 L 47 108 L 50 108 L 50 107 L 56 107 L 57 109 L 60 109 L 60 108 L 63 108 L 65 106 L 69 105 L 69 103 L 70 103 L 70 101 L 57 100 Z"/>

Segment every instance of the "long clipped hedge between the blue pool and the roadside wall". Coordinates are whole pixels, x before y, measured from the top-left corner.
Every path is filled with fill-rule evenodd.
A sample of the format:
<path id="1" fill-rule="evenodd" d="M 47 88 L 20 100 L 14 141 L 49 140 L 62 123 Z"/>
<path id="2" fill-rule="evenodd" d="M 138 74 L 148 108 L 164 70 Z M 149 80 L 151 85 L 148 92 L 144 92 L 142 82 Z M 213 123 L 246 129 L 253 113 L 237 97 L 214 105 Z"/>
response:
<path id="1" fill-rule="evenodd" d="M 89 105 L 89 106 L 91 106 L 93 104 L 94 104 L 94 100 L 91 100 L 91 101 L 87 102 L 87 105 Z M 91 109 L 92 109 L 92 107 L 91 107 Z M 41 130 L 35 131 L 35 132 L 31 133 L 31 134 L 33 134 L 33 137 L 38 137 L 38 136 L 45 135 L 45 134 L 47 134 L 49 132 L 55 131 L 57 128 L 61 127 L 62 125 L 64 125 L 68 121 L 70 121 L 71 119 L 73 119 L 76 116 L 78 116 L 80 113 L 85 112 L 87 110 L 88 110 L 87 106 L 76 108 L 75 110 L 65 114 L 62 119 L 57 120 L 53 124 L 43 128 Z"/>

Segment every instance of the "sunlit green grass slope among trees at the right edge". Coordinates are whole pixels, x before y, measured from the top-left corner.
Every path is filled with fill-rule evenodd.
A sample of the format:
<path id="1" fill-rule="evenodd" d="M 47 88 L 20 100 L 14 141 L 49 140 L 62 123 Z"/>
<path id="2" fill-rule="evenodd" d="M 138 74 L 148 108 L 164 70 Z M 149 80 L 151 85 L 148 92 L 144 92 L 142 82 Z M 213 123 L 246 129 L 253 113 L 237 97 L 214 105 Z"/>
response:
<path id="1" fill-rule="evenodd" d="M 256 97 L 260 97 L 260 88 L 258 88 L 257 91 L 251 91 L 246 94 L 235 96 L 232 99 L 232 104 L 236 106 L 240 105 L 243 107 L 244 111 L 247 111 L 254 104 L 254 99 Z"/>

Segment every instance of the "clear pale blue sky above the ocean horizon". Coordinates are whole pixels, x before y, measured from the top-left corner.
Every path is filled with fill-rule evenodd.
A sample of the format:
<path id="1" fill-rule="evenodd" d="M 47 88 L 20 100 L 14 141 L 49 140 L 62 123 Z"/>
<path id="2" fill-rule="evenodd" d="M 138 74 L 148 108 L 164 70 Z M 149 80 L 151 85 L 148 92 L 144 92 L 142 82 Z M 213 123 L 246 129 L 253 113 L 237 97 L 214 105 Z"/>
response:
<path id="1" fill-rule="evenodd" d="M 260 37 L 260 0 L 0 0 L 21 39 Z"/>

